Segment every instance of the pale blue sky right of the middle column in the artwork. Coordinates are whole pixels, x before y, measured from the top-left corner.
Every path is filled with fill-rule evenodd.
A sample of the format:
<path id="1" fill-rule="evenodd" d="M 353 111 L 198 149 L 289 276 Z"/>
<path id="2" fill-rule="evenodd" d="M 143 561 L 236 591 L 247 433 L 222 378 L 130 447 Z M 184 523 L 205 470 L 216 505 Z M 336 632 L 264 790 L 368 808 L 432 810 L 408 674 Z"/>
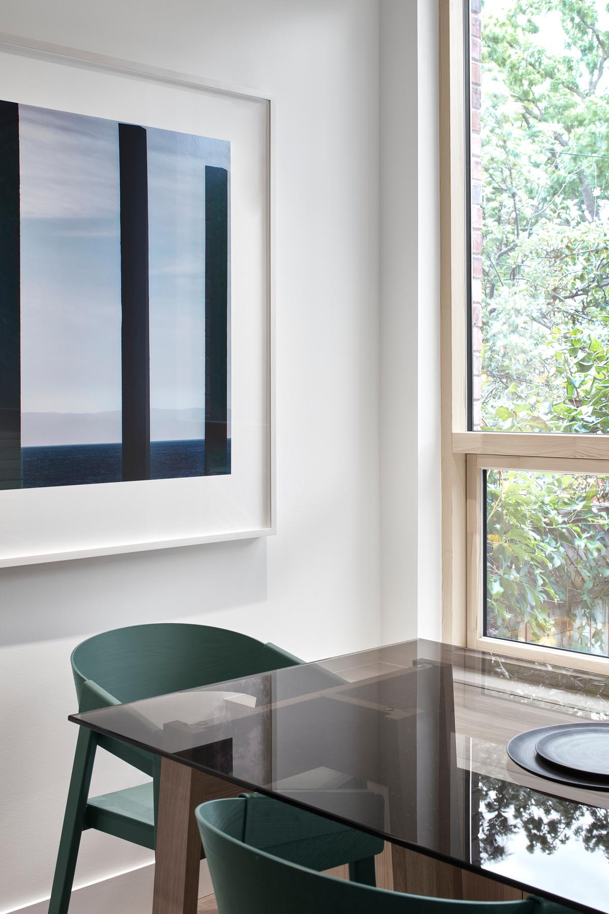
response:
<path id="1" fill-rule="evenodd" d="M 228 169 L 230 144 L 150 128 L 147 135 L 151 438 L 203 438 L 205 165 Z"/>

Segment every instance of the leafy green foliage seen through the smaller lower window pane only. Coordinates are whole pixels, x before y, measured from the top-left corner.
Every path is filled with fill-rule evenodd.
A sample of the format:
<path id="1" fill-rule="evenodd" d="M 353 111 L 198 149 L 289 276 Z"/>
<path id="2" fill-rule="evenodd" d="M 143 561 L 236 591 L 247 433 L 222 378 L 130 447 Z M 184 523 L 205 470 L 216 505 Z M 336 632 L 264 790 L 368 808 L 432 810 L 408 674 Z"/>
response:
<path id="1" fill-rule="evenodd" d="M 488 471 L 488 635 L 604 653 L 608 521 L 607 476 Z"/>

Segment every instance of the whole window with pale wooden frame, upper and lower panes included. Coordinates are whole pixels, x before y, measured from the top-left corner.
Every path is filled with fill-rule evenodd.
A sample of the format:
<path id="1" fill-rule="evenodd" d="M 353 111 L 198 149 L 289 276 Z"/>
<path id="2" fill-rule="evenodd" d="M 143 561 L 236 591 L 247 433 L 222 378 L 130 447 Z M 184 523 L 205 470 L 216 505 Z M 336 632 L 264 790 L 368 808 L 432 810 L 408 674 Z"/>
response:
<path id="1" fill-rule="evenodd" d="M 609 665 L 609 11 L 440 9 L 444 636 Z"/>

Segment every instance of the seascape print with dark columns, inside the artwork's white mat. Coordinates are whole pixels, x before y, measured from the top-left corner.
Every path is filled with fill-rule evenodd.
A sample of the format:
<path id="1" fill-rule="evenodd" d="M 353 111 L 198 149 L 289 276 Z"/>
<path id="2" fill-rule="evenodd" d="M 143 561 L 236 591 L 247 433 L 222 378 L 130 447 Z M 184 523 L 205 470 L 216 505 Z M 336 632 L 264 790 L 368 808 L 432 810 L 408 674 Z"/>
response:
<path id="1" fill-rule="evenodd" d="M 230 143 L 0 101 L 0 489 L 231 472 Z"/>

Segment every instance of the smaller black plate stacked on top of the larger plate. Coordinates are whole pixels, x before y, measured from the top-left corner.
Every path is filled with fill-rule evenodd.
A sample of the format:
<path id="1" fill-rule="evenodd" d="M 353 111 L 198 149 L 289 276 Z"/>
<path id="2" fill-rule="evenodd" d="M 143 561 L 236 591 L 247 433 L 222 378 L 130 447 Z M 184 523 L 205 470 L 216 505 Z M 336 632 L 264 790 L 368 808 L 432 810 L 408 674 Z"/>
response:
<path id="1" fill-rule="evenodd" d="M 535 749 L 551 765 L 609 778 L 609 724 L 566 724 L 538 739 Z"/>

